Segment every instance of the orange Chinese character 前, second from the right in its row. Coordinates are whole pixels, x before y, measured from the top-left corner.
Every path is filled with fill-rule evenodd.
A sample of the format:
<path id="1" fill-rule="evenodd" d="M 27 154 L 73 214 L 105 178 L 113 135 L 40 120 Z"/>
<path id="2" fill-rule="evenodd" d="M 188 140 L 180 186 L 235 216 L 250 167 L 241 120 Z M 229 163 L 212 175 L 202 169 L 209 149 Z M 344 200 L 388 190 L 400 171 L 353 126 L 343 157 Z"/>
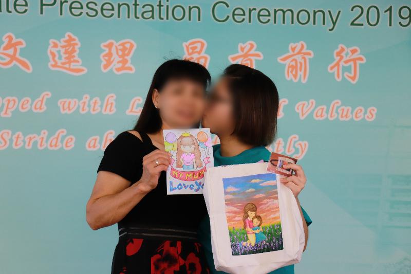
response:
<path id="1" fill-rule="evenodd" d="M 302 41 L 295 44 L 291 43 L 288 48 L 290 52 L 277 59 L 278 62 L 286 64 L 286 79 L 297 82 L 301 76 L 301 82 L 305 83 L 309 72 L 308 58 L 312 58 L 314 53 L 307 50 L 307 45 Z"/>

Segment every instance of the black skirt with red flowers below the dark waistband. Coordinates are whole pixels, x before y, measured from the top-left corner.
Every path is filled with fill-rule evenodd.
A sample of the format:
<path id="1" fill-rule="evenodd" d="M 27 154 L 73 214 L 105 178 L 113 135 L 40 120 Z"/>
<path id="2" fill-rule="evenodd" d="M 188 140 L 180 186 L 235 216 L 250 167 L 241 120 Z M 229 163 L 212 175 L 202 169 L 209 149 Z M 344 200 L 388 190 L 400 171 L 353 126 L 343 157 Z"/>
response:
<path id="1" fill-rule="evenodd" d="M 120 237 L 111 274 L 210 273 L 204 251 L 196 240 L 134 236 Z"/>

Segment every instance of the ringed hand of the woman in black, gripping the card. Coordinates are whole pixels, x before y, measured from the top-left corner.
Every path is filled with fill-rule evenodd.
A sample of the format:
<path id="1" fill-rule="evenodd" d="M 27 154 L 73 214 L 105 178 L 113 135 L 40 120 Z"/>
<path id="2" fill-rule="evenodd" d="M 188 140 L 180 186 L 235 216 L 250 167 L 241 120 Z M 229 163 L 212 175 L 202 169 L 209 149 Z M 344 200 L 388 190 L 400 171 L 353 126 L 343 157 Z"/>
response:
<path id="1" fill-rule="evenodd" d="M 169 152 L 157 149 L 143 157 L 143 174 L 138 184 L 143 191 L 150 192 L 157 187 L 160 173 L 166 171 L 171 165 L 170 156 Z M 157 165 L 156 160 L 159 165 Z"/>

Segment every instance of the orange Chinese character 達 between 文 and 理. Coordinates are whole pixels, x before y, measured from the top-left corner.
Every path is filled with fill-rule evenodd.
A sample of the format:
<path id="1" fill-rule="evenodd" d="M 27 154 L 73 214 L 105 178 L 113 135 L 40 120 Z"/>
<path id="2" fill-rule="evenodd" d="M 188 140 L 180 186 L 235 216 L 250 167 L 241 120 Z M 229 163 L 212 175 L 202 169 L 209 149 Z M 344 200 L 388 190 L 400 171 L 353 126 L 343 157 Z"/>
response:
<path id="1" fill-rule="evenodd" d="M 48 47 L 48 56 L 50 62 L 49 68 L 52 70 L 61 70 L 71 75 L 82 75 L 87 72 L 87 68 L 80 66 L 82 61 L 78 57 L 80 48 L 79 39 L 71 34 L 66 33 L 66 36 L 59 41 L 50 39 Z M 59 53 L 61 59 L 59 59 Z"/>

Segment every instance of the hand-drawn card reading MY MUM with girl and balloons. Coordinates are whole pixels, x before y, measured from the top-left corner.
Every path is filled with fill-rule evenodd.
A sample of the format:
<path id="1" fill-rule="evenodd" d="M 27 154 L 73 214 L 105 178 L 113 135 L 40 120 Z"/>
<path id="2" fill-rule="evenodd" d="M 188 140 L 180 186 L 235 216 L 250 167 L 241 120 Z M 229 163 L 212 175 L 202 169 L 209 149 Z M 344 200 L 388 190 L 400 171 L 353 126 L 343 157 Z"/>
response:
<path id="1" fill-rule="evenodd" d="M 210 129 L 163 130 L 165 151 L 171 153 L 167 169 L 167 195 L 201 194 L 204 172 L 214 166 Z"/>

